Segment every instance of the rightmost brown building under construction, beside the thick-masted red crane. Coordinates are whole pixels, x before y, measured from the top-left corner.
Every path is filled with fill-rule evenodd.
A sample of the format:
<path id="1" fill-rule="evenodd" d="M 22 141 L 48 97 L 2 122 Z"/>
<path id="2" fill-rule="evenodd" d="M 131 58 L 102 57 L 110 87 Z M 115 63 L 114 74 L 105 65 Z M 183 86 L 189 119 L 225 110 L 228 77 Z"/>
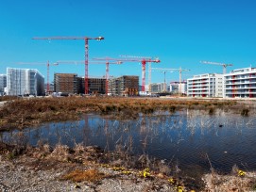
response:
<path id="1" fill-rule="evenodd" d="M 139 76 L 124 75 L 109 80 L 111 95 L 135 96 L 139 93 Z"/>

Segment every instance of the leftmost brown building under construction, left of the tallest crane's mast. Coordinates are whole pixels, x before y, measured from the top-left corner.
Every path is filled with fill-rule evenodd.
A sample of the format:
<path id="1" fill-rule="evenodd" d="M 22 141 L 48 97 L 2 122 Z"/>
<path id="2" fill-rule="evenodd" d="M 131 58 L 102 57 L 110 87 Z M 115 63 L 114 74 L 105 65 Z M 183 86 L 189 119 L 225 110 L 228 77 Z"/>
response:
<path id="1" fill-rule="evenodd" d="M 54 74 L 54 91 L 63 94 L 75 94 L 78 92 L 77 74 L 76 73 L 55 73 Z"/>

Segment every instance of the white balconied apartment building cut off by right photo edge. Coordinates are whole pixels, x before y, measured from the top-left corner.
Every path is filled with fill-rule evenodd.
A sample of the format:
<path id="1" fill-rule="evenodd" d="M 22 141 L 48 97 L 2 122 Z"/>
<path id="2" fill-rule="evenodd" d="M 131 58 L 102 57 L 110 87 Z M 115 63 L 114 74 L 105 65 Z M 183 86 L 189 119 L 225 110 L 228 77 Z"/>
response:
<path id="1" fill-rule="evenodd" d="M 256 68 L 233 70 L 223 81 L 224 98 L 256 98 Z"/>

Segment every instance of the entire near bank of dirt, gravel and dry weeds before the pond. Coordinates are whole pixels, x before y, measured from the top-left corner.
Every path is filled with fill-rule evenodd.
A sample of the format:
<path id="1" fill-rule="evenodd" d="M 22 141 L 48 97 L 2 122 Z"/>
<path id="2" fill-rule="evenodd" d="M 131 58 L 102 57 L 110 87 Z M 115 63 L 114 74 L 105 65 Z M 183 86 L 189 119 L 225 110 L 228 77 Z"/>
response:
<path id="1" fill-rule="evenodd" d="M 99 163 L 101 151 L 95 146 L 77 146 L 70 151 L 65 146 L 49 150 L 13 148 L 0 143 L 1 191 L 88 191 L 88 192 L 248 192 L 256 191 L 256 173 L 236 170 L 230 175 L 214 172 L 202 175 L 198 181 L 166 176 L 147 168 L 125 168 L 122 161 Z"/>

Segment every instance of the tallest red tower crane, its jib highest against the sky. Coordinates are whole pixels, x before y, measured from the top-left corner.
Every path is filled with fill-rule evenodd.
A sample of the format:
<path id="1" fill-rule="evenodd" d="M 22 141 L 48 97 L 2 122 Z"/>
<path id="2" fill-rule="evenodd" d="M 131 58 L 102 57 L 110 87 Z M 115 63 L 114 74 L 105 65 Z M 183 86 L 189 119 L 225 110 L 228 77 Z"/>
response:
<path id="1" fill-rule="evenodd" d="M 39 38 L 35 37 L 32 38 L 32 40 L 84 40 L 85 42 L 85 74 L 84 74 L 84 91 L 85 94 L 89 93 L 88 88 L 88 60 L 89 60 L 89 47 L 88 47 L 88 41 L 89 40 L 104 40 L 103 37 L 96 37 L 96 38 L 89 38 L 89 37 L 47 37 L 47 38 Z"/>

